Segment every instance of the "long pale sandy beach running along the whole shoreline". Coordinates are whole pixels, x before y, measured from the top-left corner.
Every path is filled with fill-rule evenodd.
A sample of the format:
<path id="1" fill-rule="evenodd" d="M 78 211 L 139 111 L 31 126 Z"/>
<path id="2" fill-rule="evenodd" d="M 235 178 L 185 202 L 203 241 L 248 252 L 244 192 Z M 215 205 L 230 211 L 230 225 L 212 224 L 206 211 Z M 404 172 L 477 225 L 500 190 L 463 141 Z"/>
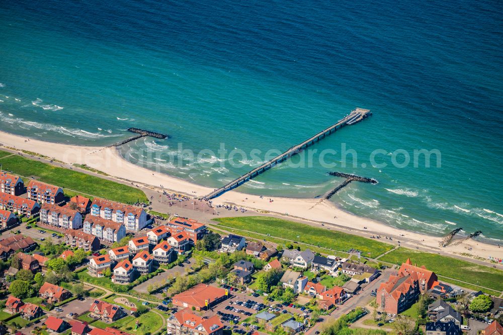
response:
<path id="1" fill-rule="evenodd" d="M 67 164 L 87 164 L 115 178 L 128 180 L 135 184 L 153 187 L 159 190 L 184 193 L 191 197 L 202 197 L 212 191 L 210 188 L 196 185 L 163 173 L 153 172 L 145 167 L 130 163 L 118 154 L 116 148 L 49 143 L 5 132 L 0 132 L 0 143 L 4 147 L 37 152 Z M 402 241 L 401 245 L 403 246 L 411 248 L 417 246 L 422 249 L 429 249 L 432 252 L 442 252 L 453 255 L 470 254 L 472 257 L 482 259 L 487 259 L 488 256 L 503 256 L 503 250 L 497 245 L 486 244 L 475 240 L 467 240 L 462 243 L 451 243 L 448 247 L 440 248 L 439 242 L 442 239 L 440 237 L 400 230 L 381 222 L 359 217 L 337 208 L 329 201 L 281 197 L 272 197 L 272 199 L 273 201 L 270 202 L 269 197 L 261 198 L 260 196 L 229 191 L 214 199 L 213 204 L 236 204 L 240 207 L 256 210 L 259 213 L 270 212 L 283 216 L 288 215 L 290 217 L 308 220 L 311 224 L 324 223 L 325 226 L 347 230 L 362 236 L 369 236 L 373 233 L 382 236 L 392 236 L 395 241 Z M 385 240 L 383 239 L 383 241 Z M 471 250 L 468 249 L 469 247 Z"/>

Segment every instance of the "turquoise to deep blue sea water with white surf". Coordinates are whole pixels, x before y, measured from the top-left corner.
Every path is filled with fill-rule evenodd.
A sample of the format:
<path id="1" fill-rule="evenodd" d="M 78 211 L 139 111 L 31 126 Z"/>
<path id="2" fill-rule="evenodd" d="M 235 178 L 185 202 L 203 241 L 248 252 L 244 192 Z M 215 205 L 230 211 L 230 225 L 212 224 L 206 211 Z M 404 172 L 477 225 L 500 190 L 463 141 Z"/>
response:
<path id="1" fill-rule="evenodd" d="M 497 1 L 2 2 L 0 129 L 79 145 L 114 143 L 131 126 L 159 131 L 172 137 L 131 142 L 122 155 L 217 187 L 266 151 L 368 108 L 370 119 L 312 147 L 311 166 L 295 157 L 238 190 L 310 198 L 342 182 L 327 171 L 354 173 L 379 184 L 332 198 L 350 212 L 435 235 L 482 230 L 497 243 L 502 10 Z M 343 143 L 356 166 L 351 155 L 341 166 Z M 222 144 L 235 155 L 220 156 Z M 339 152 L 324 156 L 337 166 L 319 163 L 326 149 Z M 372 166 L 376 149 L 388 166 Z M 441 166 L 393 166 L 397 149 L 411 160 L 414 149 L 438 150 Z"/>

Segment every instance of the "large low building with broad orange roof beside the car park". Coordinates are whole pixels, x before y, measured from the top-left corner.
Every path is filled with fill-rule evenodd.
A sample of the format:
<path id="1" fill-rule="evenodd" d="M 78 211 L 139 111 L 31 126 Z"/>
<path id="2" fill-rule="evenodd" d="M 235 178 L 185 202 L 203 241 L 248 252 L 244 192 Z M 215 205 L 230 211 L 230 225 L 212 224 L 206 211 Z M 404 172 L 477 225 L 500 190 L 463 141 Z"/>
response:
<path id="1" fill-rule="evenodd" d="M 227 298 L 228 292 L 222 288 L 207 284 L 198 284 L 185 292 L 172 297 L 173 304 L 179 307 L 194 307 L 195 310 L 203 310 Z"/>

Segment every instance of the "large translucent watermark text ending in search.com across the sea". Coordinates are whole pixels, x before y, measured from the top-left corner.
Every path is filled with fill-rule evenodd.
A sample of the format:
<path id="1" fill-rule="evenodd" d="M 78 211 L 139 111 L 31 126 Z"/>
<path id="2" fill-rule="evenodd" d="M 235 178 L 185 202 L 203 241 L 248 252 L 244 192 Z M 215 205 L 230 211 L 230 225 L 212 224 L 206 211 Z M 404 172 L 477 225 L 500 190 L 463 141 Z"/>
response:
<path id="1" fill-rule="evenodd" d="M 355 149 L 348 148 L 346 143 L 342 143 L 340 150 L 307 148 L 297 151 L 295 154 L 293 154 L 294 151 L 291 151 L 281 156 L 283 153 L 278 149 L 269 149 L 267 151 L 252 149 L 249 152 L 237 148 L 228 150 L 224 143 L 220 143 L 216 151 L 202 149 L 195 152 L 184 148 L 182 143 L 178 144 L 177 149 L 172 146 L 169 151 L 152 150 L 151 148 L 122 150 L 122 155 L 131 162 L 148 166 L 149 169 L 156 169 L 157 167 L 158 170 L 162 167 L 176 168 L 196 165 L 203 169 L 215 167 L 240 169 L 249 166 L 251 170 L 266 162 L 274 161 L 278 156 L 285 158 L 291 156 L 291 159 L 283 159 L 281 163 L 292 168 L 310 168 L 316 165 L 325 169 L 333 169 L 334 167 L 366 168 L 369 166 L 384 169 L 392 165 L 398 169 L 403 169 L 409 166 L 414 168 L 440 168 L 442 165 L 442 155 L 437 149 L 414 149 L 411 151 L 396 149 L 390 152 L 378 148 L 363 156 L 359 155 Z"/>

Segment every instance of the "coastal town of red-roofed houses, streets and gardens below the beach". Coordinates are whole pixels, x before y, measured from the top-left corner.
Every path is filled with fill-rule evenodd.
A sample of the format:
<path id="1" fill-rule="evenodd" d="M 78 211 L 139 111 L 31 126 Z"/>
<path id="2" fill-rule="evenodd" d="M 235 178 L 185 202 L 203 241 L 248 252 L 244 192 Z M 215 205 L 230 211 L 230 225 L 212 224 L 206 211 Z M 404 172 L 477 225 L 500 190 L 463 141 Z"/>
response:
<path id="1" fill-rule="evenodd" d="M 336 251 L 304 242 L 318 228 L 278 239 L 150 204 L 2 172 L 0 333 L 503 333 L 501 282 L 469 285 L 413 250 L 386 262 L 401 248 L 373 239 Z"/>

